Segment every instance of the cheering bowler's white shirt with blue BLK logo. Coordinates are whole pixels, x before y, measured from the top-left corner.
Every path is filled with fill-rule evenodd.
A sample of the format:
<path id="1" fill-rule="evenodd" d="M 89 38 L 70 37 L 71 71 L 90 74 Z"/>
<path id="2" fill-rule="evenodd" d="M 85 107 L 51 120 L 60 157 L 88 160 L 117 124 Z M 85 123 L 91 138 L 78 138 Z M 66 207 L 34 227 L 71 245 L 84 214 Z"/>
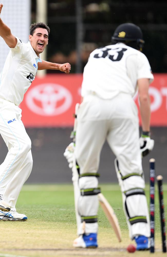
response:
<path id="1" fill-rule="evenodd" d="M 16 39 L 17 44 L 10 48 L 0 75 L 0 98 L 19 105 L 35 79 L 41 58 L 36 55 L 30 41 L 25 44 Z"/>

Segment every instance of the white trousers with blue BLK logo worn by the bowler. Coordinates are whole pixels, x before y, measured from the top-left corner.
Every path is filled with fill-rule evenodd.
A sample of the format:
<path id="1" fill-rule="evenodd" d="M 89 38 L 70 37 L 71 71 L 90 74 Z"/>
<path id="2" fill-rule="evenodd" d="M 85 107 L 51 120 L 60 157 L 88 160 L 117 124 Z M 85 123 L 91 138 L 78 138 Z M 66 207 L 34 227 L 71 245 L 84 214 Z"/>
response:
<path id="1" fill-rule="evenodd" d="M 15 205 L 24 182 L 32 170 L 31 140 L 21 121 L 22 110 L 0 99 L 0 133 L 8 153 L 0 165 L 0 194 L 16 210 Z"/>

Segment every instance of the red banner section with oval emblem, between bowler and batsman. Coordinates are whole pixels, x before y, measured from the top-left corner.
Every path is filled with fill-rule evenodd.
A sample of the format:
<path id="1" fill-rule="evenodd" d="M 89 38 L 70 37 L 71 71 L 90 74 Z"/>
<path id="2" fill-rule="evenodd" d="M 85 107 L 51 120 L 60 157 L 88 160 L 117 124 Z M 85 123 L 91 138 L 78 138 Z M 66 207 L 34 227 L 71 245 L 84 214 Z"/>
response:
<path id="1" fill-rule="evenodd" d="M 35 77 L 20 104 L 25 127 L 73 126 L 75 104 L 80 103 L 82 74 Z"/>

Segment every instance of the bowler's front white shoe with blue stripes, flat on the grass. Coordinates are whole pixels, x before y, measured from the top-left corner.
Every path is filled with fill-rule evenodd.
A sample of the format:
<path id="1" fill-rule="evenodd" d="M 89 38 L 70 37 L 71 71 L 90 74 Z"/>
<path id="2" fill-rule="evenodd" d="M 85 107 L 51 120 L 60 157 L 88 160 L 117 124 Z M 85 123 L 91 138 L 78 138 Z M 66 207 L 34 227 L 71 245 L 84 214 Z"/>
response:
<path id="1" fill-rule="evenodd" d="M 27 216 L 17 213 L 15 210 L 11 212 L 3 212 L 0 210 L 0 221 L 26 221 Z"/>

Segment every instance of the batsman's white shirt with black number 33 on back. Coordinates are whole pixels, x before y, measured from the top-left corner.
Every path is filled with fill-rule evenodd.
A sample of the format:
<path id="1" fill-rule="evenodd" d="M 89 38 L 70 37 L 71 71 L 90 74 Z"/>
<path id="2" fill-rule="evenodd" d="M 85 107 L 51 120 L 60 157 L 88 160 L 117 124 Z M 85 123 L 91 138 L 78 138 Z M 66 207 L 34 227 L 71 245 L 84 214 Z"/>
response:
<path id="1" fill-rule="evenodd" d="M 137 80 L 154 79 L 147 57 L 124 43 L 95 49 L 84 68 L 81 95 L 111 99 L 123 92 L 134 96 Z"/>

